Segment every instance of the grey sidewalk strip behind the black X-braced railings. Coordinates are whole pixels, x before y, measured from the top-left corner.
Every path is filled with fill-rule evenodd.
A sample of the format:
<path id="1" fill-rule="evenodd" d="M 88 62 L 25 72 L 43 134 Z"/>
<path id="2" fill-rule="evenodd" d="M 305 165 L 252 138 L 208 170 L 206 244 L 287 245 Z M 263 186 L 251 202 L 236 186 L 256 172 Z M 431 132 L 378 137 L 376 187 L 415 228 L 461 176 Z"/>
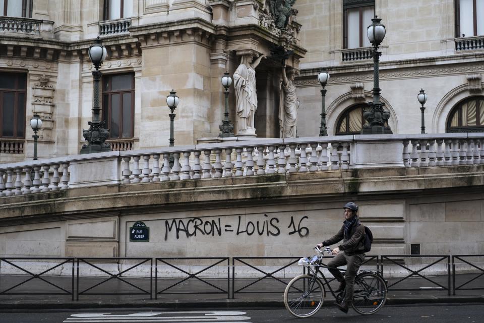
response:
<path id="1" fill-rule="evenodd" d="M 460 274 L 456 276 L 456 286 L 478 276 L 478 274 Z M 41 276 L 46 281 L 55 284 L 68 292 L 72 291 L 73 283 L 71 277 Z M 427 277 L 436 283 L 447 287 L 447 276 Z M 107 280 L 108 277 L 80 277 L 79 278 L 79 300 L 72 300 L 72 295 L 39 295 L 36 293 L 64 293 L 40 278 L 32 278 L 27 275 L 2 275 L 0 279 L 0 292 L 30 279 L 25 284 L 8 291 L 10 293 L 26 293 L 25 295 L 0 294 L 0 310 L 6 309 L 54 309 L 54 308 L 99 308 L 99 307 L 163 307 L 163 308 L 241 308 L 241 307 L 284 307 L 283 293 L 285 285 L 274 279 L 264 279 L 258 283 L 245 288 L 254 280 L 236 279 L 234 298 L 232 297 L 232 281 L 230 280 L 230 293 L 227 295 L 226 279 L 207 279 L 206 283 L 196 278 L 179 283 L 182 279 L 158 279 L 158 293 L 166 290 L 171 293 L 188 294 L 158 294 L 155 299 L 155 280 L 153 279 L 150 299 L 150 279 L 122 277 L 122 279 L 133 284 L 131 286 L 118 279 Z M 484 303 L 484 277 L 479 277 L 464 288 L 481 288 L 480 290 L 457 290 L 456 295 L 448 295 L 447 290 L 431 290 L 439 288 L 438 285 L 423 278 L 408 278 L 398 284 L 391 286 L 401 278 L 393 278 L 388 281 L 389 291 L 387 304 L 421 304 L 421 303 Z M 91 289 L 92 286 L 105 281 Z M 288 282 L 289 280 L 283 280 Z M 212 284 L 222 291 L 210 286 Z M 452 284 L 452 281 L 451 281 Z M 136 286 L 136 287 L 135 287 Z M 331 284 L 332 287 L 333 283 Z M 452 286 L 452 285 L 451 285 Z M 138 287 L 138 288 L 137 288 Z M 74 282 L 74 299 L 76 299 L 77 282 Z M 141 290 L 140 290 L 141 289 Z M 395 291 L 394 289 L 417 289 L 411 291 Z M 115 293 L 143 293 L 142 295 L 119 295 Z M 204 292 L 219 292 L 219 294 L 204 294 Z M 255 291 L 263 293 L 254 293 Z M 84 292 L 84 293 L 83 293 Z M 238 293 L 240 292 L 240 293 Z M 96 293 L 96 294 L 85 294 Z M 109 295 L 98 295 L 108 293 Z M 228 298 L 228 296 L 230 298 Z M 323 306 L 333 306 L 333 297 L 327 292 Z"/>

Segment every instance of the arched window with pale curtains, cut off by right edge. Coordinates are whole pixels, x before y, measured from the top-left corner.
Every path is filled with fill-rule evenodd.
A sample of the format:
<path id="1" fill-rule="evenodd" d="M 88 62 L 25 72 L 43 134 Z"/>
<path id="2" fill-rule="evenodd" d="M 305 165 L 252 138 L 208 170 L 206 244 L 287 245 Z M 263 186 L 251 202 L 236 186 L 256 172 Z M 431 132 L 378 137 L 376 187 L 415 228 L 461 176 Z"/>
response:
<path id="1" fill-rule="evenodd" d="M 474 96 L 457 104 L 447 120 L 448 133 L 484 132 L 484 97 Z"/>

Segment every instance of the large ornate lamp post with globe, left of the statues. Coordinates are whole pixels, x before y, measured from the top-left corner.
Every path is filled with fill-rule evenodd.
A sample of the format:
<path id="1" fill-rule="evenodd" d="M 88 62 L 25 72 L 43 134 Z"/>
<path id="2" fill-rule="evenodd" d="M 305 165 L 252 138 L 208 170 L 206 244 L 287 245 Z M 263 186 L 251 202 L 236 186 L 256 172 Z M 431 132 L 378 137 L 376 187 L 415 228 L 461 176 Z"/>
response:
<path id="1" fill-rule="evenodd" d="M 102 45 L 101 40 L 97 37 L 94 44 L 89 47 L 89 59 L 91 59 L 96 71 L 92 72 L 94 79 L 93 89 L 93 107 L 92 107 L 92 122 L 89 121 L 89 129 L 83 130 L 83 136 L 87 140 L 87 145 L 81 148 L 81 154 L 100 153 L 111 151 L 111 146 L 104 143 L 109 138 L 109 131 L 104 128 L 104 121 L 100 120 L 100 95 L 99 83 L 101 81 L 102 73 L 99 72 L 101 64 L 106 58 L 106 48 Z"/>

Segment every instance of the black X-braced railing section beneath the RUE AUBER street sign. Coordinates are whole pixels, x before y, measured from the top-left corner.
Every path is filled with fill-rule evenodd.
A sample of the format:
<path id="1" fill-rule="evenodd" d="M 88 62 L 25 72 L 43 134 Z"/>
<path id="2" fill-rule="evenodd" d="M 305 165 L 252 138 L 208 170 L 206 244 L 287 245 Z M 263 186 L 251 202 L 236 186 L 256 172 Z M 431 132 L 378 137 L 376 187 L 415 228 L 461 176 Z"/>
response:
<path id="1" fill-rule="evenodd" d="M 107 262 L 113 262 L 113 261 L 116 261 L 116 262 L 119 262 L 119 261 L 137 261 L 138 263 L 131 266 L 130 268 L 128 269 L 125 269 L 123 271 L 119 271 L 117 274 L 111 274 L 110 272 L 108 272 L 107 270 L 99 267 L 100 263 L 107 263 Z M 93 264 L 94 262 L 96 262 L 97 264 Z M 146 289 L 143 289 L 139 286 L 136 286 L 135 284 L 129 282 L 127 280 L 127 278 L 122 278 L 121 275 L 145 264 L 145 263 L 150 263 L 150 290 L 146 290 Z M 97 283 L 97 284 L 94 284 L 84 290 L 80 290 L 79 289 L 79 283 L 80 283 L 80 280 L 81 278 L 79 278 L 79 264 L 86 264 L 90 267 L 93 267 L 97 270 L 99 270 L 100 272 L 108 275 L 109 277 L 102 280 L 101 282 Z M 111 281 L 111 280 L 118 280 L 120 282 L 123 282 L 123 283 L 126 283 L 128 284 L 129 286 L 133 287 L 135 290 L 135 292 L 110 292 L 110 293 L 107 293 L 107 292 L 89 292 L 90 290 L 100 286 L 100 285 L 103 285 L 103 284 L 106 284 L 108 281 Z M 77 289 L 76 289 L 76 300 L 79 300 L 79 295 L 150 295 L 150 299 L 153 299 L 153 259 L 152 258 L 127 258 L 127 257 L 112 257 L 112 258 L 78 258 L 77 259 Z"/>

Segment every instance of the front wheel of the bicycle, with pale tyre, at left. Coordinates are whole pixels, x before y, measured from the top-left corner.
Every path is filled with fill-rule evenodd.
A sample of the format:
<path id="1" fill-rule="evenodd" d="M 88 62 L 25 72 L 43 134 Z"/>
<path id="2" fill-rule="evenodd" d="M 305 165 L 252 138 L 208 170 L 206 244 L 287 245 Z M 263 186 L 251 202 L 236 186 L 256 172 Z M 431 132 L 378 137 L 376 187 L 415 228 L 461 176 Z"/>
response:
<path id="1" fill-rule="evenodd" d="M 287 284 L 284 305 L 296 317 L 310 317 L 321 308 L 324 296 L 321 280 L 310 275 L 300 275 Z"/>

